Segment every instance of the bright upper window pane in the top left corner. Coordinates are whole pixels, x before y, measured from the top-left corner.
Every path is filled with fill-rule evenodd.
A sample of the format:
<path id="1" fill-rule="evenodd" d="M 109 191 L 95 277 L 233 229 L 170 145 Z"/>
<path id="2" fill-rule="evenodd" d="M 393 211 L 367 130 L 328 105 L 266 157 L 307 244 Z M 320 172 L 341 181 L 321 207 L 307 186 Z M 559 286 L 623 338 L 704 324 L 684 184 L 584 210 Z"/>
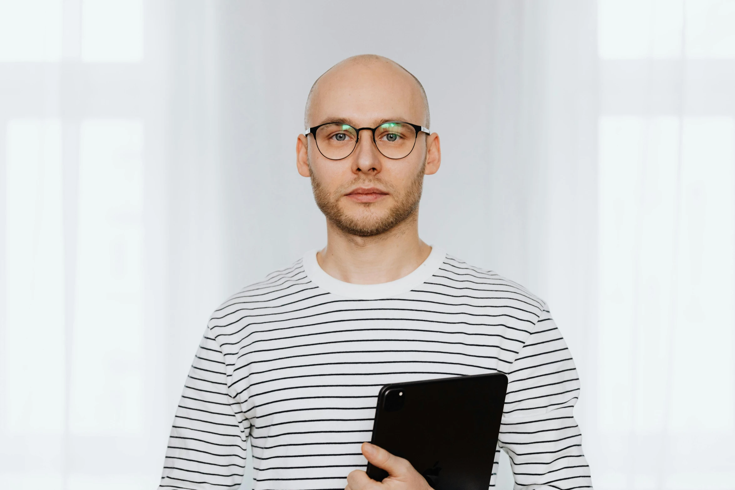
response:
<path id="1" fill-rule="evenodd" d="M 60 61 L 62 0 L 0 0 L 0 62 Z"/>

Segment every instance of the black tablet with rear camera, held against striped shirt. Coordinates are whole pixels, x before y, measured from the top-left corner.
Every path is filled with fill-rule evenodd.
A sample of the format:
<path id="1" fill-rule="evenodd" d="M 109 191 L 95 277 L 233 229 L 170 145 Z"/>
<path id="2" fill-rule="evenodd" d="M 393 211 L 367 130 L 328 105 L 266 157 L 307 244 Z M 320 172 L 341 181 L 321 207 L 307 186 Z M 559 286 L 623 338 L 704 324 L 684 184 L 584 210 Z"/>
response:
<path id="1" fill-rule="evenodd" d="M 501 372 L 383 386 L 370 442 L 406 458 L 434 490 L 487 490 L 508 378 Z M 368 476 L 388 473 L 368 464 Z"/>

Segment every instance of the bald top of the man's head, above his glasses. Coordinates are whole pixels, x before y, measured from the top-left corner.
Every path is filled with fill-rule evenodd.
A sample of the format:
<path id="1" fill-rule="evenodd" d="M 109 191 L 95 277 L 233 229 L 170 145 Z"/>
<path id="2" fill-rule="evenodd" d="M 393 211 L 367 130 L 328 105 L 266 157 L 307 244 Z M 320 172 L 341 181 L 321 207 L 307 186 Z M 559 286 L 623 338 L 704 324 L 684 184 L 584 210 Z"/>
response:
<path id="1" fill-rule="evenodd" d="M 395 61 L 376 54 L 340 61 L 314 82 L 306 98 L 304 128 L 360 115 L 374 120 L 395 117 L 427 128 L 431 122 L 421 82 Z"/>

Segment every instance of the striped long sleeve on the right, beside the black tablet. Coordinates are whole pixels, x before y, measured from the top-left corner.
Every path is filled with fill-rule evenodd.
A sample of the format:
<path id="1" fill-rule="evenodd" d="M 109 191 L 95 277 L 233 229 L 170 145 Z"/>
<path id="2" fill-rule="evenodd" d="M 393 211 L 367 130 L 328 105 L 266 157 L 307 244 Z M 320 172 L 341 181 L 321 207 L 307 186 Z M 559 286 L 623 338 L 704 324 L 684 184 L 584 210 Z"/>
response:
<path id="1" fill-rule="evenodd" d="M 574 361 L 544 307 L 510 367 L 498 437 L 510 457 L 516 490 L 592 488 L 572 414 L 578 397 Z"/>

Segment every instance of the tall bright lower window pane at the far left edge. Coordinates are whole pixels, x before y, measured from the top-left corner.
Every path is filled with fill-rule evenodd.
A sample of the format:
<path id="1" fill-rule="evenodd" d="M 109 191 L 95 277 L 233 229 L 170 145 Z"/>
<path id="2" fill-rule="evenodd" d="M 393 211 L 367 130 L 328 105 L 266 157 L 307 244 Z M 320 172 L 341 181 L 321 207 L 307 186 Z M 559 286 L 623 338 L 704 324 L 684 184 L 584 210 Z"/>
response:
<path id="1" fill-rule="evenodd" d="M 2 400 L 11 433 L 59 434 L 64 428 L 61 150 L 58 120 L 8 123 Z"/>

